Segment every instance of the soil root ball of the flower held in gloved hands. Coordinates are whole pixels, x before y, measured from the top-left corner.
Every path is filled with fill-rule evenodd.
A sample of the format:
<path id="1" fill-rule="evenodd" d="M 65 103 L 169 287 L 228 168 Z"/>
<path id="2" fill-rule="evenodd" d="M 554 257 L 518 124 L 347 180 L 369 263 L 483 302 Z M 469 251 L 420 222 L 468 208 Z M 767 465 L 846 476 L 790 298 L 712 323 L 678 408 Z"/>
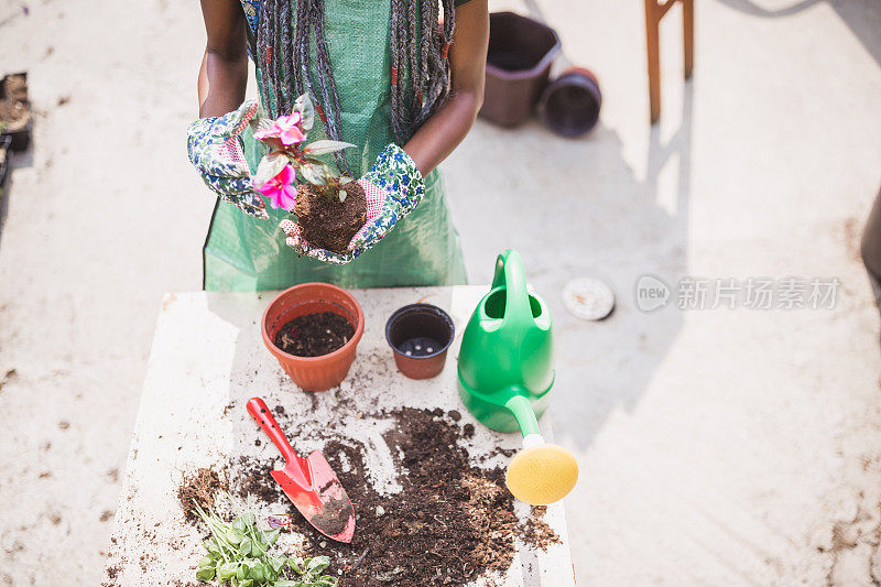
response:
<path id="1" fill-rule="evenodd" d="M 356 182 L 342 189 L 346 200 L 328 198 L 314 191 L 311 184 L 296 186 L 296 214 L 302 237 L 319 249 L 338 253 L 348 250 L 349 241 L 367 221 L 367 197 Z"/>

